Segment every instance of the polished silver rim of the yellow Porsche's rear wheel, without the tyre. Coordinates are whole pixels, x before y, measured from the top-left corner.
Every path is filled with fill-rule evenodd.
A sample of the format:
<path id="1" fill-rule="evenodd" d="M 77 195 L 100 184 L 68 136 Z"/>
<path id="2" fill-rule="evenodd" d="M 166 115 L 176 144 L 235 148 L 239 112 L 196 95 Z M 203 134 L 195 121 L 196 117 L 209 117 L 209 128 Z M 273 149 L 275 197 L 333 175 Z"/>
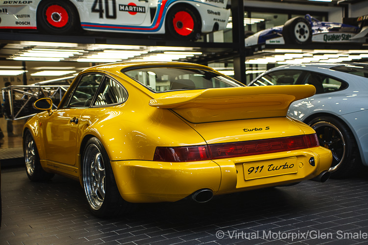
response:
<path id="1" fill-rule="evenodd" d="M 101 208 L 105 199 L 106 173 L 102 154 L 99 148 L 90 144 L 83 157 L 84 192 L 92 209 Z"/>

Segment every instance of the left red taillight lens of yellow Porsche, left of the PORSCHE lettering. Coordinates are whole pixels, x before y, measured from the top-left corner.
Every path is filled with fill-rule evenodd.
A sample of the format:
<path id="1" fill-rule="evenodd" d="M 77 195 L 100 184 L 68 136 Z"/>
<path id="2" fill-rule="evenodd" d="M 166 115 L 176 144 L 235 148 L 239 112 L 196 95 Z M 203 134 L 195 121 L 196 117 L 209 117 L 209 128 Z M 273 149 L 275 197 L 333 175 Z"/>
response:
<path id="1" fill-rule="evenodd" d="M 210 160 L 207 146 L 191 147 L 157 147 L 154 161 L 192 162 Z"/>

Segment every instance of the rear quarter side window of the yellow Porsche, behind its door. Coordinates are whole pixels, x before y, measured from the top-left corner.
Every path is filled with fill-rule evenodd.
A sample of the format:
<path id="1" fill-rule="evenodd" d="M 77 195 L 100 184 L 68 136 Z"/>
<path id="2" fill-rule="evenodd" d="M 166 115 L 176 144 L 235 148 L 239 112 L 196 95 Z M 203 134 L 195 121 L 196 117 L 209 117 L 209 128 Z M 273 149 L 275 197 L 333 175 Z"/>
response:
<path id="1" fill-rule="evenodd" d="M 128 93 L 120 83 L 105 76 L 97 93 L 93 106 L 122 103 L 128 98 Z"/>

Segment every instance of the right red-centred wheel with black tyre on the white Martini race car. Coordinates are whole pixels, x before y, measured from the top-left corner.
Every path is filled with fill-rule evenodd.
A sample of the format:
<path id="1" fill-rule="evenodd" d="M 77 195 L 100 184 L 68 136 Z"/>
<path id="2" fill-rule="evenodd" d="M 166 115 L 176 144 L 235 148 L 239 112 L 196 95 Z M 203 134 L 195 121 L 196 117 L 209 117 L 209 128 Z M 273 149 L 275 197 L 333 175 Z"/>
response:
<path id="1" fill-rule="evenodd" d="M 175 39 L 197 40 L 201 37 L 201 21 L 189 7 L 176 5 L 166 17 L 166 29 Z"/>

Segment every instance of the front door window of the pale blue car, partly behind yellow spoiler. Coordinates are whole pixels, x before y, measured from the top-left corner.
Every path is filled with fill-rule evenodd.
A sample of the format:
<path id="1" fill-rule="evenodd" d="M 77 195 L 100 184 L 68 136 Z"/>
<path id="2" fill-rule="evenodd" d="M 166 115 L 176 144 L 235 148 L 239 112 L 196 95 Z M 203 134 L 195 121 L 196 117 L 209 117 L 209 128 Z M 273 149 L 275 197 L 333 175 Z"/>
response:
<path id="1" fill-rule="evenodd" d="M 274 73 L 268 73 L 257 79 L 253 86 L 268 86 L 268 85 L 293 85 L 296 84 L 302 71 L 285 70 Z"/>

